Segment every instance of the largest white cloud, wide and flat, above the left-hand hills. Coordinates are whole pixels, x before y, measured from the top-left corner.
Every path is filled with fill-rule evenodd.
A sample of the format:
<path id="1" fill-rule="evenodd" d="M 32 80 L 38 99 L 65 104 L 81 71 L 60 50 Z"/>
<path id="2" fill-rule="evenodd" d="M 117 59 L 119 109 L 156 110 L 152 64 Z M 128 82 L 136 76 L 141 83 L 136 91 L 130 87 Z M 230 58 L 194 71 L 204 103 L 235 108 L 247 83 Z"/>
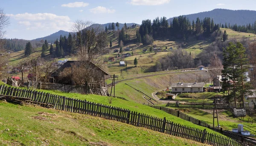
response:
<path id="1" fill-rule="evenodd" d="M 18 24 L 23 25 L 29 30 L 64 30 L 70 31 L 73 22 L 70 22 L 68 16 L 58 16 L 51 13 L 23 13 L 8 14 L 14 20 L 18 20 Z M 20 21 L 19 21 L 20 20 Z"/>

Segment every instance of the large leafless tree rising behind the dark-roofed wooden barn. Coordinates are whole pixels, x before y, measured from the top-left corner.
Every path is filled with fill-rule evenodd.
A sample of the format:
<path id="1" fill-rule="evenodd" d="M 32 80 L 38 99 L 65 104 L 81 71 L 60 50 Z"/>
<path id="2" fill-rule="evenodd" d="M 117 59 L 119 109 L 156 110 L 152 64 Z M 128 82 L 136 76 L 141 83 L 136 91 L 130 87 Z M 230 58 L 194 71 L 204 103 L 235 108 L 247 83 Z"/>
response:
<path id="1" fill-rule="evenodd" d="M 108 46 L 107 34 L 102 26 L 90 21 L 76 20 L 72 31 L 76 33 L 76 53 L 79 60 L 92 61 L 103 54 Z"/>

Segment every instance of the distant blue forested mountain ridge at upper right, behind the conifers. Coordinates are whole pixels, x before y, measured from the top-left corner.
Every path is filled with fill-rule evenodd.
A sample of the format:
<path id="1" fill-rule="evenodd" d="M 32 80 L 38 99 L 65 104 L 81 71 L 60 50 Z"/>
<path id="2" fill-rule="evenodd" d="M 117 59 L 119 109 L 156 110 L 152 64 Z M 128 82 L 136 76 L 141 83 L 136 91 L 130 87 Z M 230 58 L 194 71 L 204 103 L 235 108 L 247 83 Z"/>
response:
<path id="1" fill-rule="evenodd" d="M 204 11 L 196 14 L 183 15 L 189 18 L 190 21 L 204 19 L 204 17 L 211 17 L 215 23 L 230 23 L 230 25 L 246 25 L 254 23 L 256 20 L 256 11 L 251 10 L 228 10 L 228 9 L 214 9 L 212 11 Z M 174 18 L 174 17 L 173 17 Z M 168 19 L 168 22 L 173 18 Z"/>

